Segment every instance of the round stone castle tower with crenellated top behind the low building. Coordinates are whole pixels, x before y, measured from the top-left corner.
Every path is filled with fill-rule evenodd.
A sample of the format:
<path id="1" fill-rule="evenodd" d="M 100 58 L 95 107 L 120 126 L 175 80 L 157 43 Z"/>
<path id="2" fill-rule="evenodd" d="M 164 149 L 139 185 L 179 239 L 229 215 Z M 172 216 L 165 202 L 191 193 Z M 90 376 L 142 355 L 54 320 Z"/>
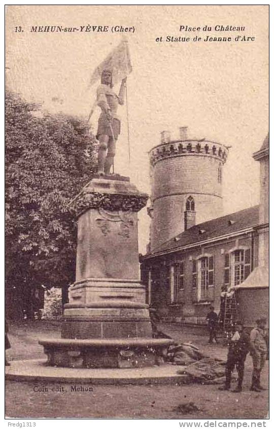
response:
<path id="1" fill-rule="evenodd" d="M 162 131 L 161 143 L 150 152 L 150 250 L 191 226 L 222 216 L 222 168 L 228 148 L 205 139 L 170 140 Z"/>

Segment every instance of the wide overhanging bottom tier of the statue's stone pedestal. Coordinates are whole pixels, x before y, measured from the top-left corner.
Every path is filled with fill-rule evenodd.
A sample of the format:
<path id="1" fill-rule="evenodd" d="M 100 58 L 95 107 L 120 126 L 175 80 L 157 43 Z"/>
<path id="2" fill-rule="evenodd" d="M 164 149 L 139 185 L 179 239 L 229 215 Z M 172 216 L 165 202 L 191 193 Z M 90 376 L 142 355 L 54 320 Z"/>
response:
<path id="1" fill-rule="evenodd" d="M 168 339 L 41 340 L 50 366 L 67 368 L 143 368 L 164 363 Z"/>

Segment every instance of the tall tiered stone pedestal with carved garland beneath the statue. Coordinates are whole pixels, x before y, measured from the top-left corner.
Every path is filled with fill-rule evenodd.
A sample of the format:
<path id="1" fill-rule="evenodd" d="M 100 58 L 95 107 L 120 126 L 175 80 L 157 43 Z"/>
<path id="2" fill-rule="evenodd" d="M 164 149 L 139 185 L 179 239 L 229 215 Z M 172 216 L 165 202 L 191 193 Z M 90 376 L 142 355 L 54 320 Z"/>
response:
<path id="1" fill-rule="evenodd" d="M 72 202 L 78 217 L 76 282 L 64 308 L 62 339 L 40 342 L 49 365 L 125 368 L 161 362 L 172 341 L 152 339 L 139 280 L 137 213 L 147 199 L 116 175 L 94 177 Z"/>

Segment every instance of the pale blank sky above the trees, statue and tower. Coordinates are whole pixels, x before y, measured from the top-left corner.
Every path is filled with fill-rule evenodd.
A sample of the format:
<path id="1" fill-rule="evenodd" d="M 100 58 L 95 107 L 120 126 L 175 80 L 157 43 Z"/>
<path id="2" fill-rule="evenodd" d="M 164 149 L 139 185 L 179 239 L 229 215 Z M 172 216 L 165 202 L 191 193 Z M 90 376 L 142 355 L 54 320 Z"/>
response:
<path id="1" fill-rule="evenodd" d="M 15 32 L 16 26 L 23 32 Z M 35 25 L 134 26 L 127 33 L 132 73 L 127 78 L 130 164 L 126 106 L 115 171 L 130 176 L 150 194 L 148 151 L 160 132 L 206 138 L 231 146 L 223 173 L 224 214 L 258 204 L 257 151 L 268 132 L 268 6 L 8 6 L 7 85 L 26 100 L 87 118 L 96 85 L 95 67 L 116 47 L 123 32 L 30 32 Z M 244 32 L 180 31 L 204 25 L 245 26 Z M 162 36 L 255 37 L 243 42 L 156 42 Z M 118 88 L 114 88 L 119 90 Z M 99 108 L 91 118 L 96 131 Z M 146 209 L 139 215 L 139 247 L 149 238 Z"/>

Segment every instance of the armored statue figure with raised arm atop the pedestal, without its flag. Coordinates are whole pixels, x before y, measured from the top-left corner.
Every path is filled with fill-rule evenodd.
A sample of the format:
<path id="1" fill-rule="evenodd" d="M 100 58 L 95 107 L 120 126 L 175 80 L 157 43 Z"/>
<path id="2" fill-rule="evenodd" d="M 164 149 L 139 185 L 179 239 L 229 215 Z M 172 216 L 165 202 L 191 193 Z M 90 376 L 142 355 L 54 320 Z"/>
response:
<path id="1" fill-rule="evenodd" d="M 112 89 L 112 72 L 103 70 L 101 84 L 97 88 L 97 105 L 101 109 L 96 135 L 99 140 L 98 174 L 102 176 L 110 174 L 114 162 L 116 142 L 121 127 L 121 121 L 116 112 L 118 104 L 124 104 L 125 82 L 126 78 L 121 82 L 119 95 L 116 95 Z"/>

